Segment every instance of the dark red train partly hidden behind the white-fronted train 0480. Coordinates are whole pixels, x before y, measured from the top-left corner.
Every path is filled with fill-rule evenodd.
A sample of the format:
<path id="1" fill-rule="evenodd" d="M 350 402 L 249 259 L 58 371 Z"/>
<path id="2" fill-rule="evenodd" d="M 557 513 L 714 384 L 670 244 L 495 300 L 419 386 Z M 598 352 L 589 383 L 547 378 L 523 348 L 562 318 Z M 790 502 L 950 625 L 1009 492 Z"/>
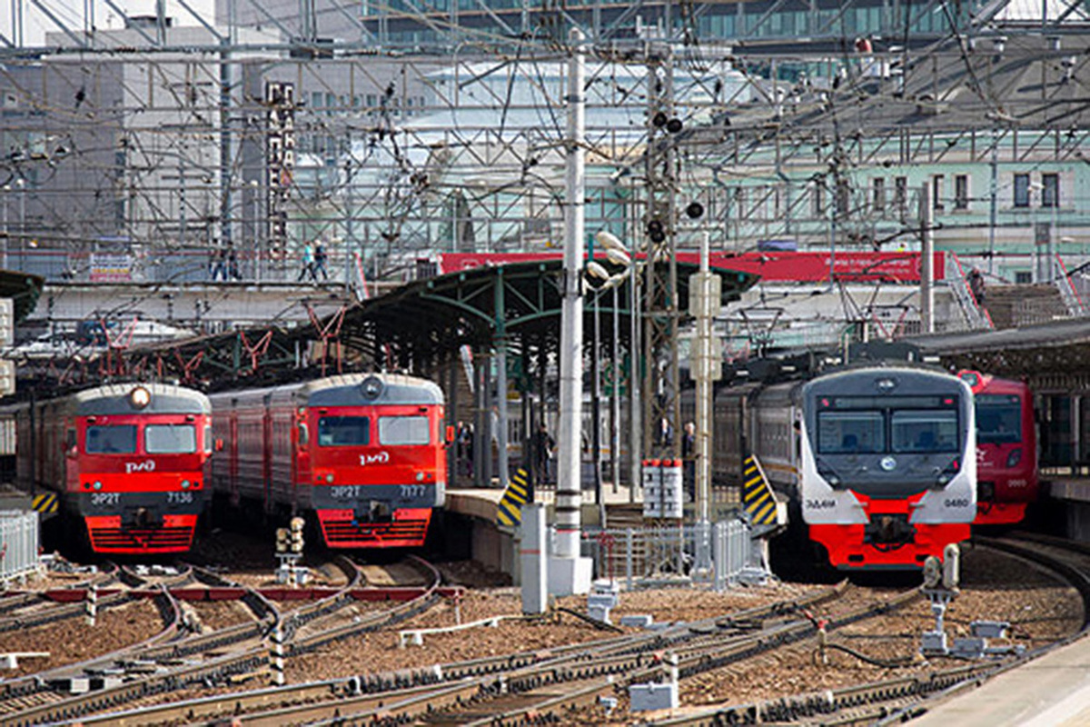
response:
<path id="1" fill-rule="evenodd" d="M 1037 429 L 1029 387 L 974 371 L 958 372 L 977 409 L 977 519 L 1009 525 L 1026 517 L 1040 494 Z"/>

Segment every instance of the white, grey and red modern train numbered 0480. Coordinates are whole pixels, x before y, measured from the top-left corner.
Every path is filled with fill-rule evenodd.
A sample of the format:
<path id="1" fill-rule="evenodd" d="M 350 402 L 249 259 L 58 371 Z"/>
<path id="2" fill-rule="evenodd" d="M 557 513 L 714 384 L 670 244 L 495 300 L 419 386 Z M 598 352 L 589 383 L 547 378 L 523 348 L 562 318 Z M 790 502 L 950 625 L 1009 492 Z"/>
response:
<path id="1" fill-rule="evenodd" d="M 755 453 L 796 534 L 835 568 L 919 569 L 969 537 L 977 432 L 972 391 L 955 376 L 868 365 L 725 387 L 713 412 L 713 477 L 737 482 Z"/>

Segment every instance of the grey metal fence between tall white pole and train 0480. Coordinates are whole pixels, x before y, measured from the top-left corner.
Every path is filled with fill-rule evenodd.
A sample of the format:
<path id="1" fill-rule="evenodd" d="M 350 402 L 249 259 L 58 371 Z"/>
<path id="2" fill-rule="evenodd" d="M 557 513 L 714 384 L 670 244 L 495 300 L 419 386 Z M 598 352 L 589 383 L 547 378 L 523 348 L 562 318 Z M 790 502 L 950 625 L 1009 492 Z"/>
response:
<path id="1" fill-rule="evenodd" d="M 738 580 L 754 557 L 753 532 L 742 520 L 712 524 L 629 528 L 584 533 L 595 578 L 623 580 L 631 590 L 651 582 L 706 581 L 719 591 Z M 711 566 L 704 572 L 698 566 Z"/>

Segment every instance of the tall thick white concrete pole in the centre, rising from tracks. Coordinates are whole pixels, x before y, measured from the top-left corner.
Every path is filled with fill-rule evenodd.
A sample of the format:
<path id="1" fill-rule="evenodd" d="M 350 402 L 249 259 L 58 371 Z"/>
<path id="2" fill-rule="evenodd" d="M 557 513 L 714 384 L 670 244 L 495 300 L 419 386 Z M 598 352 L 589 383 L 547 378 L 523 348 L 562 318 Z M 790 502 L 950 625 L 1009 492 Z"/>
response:
<path id="1" fill-rule="evenodd" d="M 579 472 L 580 413 L 583 402 L 583 34 L 569 33 L 572 57 L 568 70 L 568 165 L 565 199 L 564 301 L 560 307 L 560 426 L 556 486 L 556 567 L 549 562 L 549 592 L 557 595 L 590 591 L 578 575 L 581 483 Z M 589 566 L 589 564 L 588 564 Z"/>

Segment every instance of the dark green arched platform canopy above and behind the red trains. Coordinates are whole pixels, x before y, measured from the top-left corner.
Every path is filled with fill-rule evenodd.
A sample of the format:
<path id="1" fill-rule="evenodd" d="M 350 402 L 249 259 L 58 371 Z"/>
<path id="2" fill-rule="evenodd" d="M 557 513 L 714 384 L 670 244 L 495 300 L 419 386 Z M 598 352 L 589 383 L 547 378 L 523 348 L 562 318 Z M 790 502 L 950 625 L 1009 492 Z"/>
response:
<path id="1" fill-rule="evenodd" d="M 610 272 L 622 269 L 600 260 Z M 751 272 L 713 267 L 720 275 L 722 303 L 736 301 L 759 279 Z M 689 276 L 698 266 L 677 264 L 677 310 L 682 323 L 689 308 Z M 181 342 L 111 351 L 97 362 L 69 367 L 65 376 L 101 378 L 140 376 L 177 378 L 210 389 L 272 384 L 343 371 L 433 371 L 457 360 L 462 347 L 493 350 L 500 341 L 509 355 L 533 351 L 534 358 L 556 351 L 560 338 L 562 260 L 559 258 L 459 270 L 424 278 L 383 295 L 361 301 L 311 325 L 254 327 Z M 619 338 L 631 328 L 630 279 L 616 290 Z M 597 302 L 602 342 L 611 341 L 614 289 L 585 296 L 584 340 L 591 341 Z M 338 346 L 339 344 L 339 346 Z M 340 363 L 338 363 L 338 356 Z M 97 365 L 96 365 L 97 364 Z M 315 371 L 315 369 L 318 371 Z M 39 386 L 56 385 L 60 372 L 34 375 Z"/>

